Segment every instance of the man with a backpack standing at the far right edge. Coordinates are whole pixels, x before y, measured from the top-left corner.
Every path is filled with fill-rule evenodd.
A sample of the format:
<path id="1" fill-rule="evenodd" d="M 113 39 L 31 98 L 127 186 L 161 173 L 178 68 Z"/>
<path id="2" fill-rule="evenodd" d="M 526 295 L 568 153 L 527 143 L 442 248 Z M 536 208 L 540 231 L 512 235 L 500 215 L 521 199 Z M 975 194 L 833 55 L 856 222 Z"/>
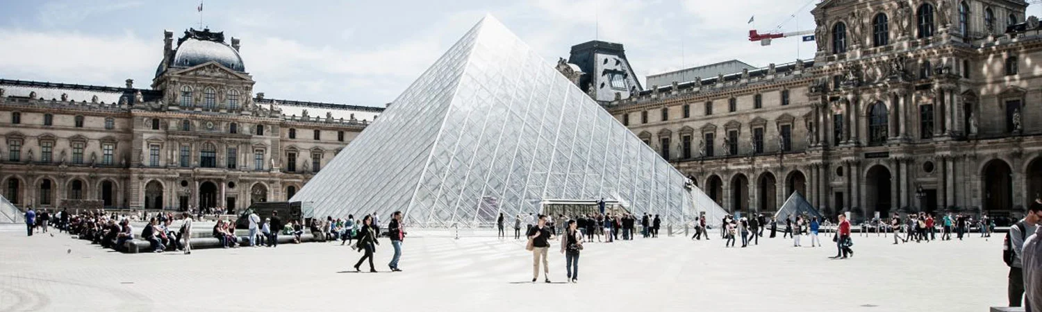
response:
<path id="1" fill-rule="evenodd" d="M 1033 203 L 1027 210 L 1027 215 L 1021 218 L 1006 233 L 1006 243 L 1002 251 L 1002 260 L 1010 266 L 1008 292 L 1010 307 L 1020 307 L 1021 298 L 1024 295 L 1024 266 L 1021 260 L 1023 254 L 1024 239 L 1034 234 L 1038 224 L 1042 222 L 1036 212 L 1042 210 L 1042 205 Z"/>

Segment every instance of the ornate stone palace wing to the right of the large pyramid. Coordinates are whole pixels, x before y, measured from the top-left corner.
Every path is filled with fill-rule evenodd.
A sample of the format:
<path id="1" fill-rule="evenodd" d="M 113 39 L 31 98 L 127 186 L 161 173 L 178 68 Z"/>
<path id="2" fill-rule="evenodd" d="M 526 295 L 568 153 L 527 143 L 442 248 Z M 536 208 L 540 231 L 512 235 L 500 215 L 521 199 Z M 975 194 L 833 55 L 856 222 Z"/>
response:
<path id="1" fill-rule="evenodd" d="M 1021 0 L 825 0 L 814 60 L 605 107 L 730 211 L 1017 216 L 1042 192 L 1042 35 Z"/>

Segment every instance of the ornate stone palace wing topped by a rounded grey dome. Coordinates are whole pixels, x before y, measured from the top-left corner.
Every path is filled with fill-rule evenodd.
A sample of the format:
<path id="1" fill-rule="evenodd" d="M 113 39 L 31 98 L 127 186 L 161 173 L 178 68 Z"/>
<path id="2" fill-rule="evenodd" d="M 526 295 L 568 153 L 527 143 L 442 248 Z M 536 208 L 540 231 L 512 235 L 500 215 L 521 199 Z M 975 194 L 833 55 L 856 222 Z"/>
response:
<path id="1" fill-rule="evenodd" d="M 174 40 L 165 32 L 151 88 L 0 79 L 3 197 L 173 210 L 286 201 L 382 111 L 254 95 L 238 38 Z"/>

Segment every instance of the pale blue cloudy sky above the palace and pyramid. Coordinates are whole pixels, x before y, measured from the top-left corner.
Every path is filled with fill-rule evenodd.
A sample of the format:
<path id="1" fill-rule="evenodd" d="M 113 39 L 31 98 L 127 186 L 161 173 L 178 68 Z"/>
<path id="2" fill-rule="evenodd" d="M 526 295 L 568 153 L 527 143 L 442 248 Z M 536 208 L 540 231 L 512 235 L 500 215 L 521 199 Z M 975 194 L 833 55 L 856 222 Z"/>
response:
<path id="1" fill-rule="evenodd" d="M 391 102 L 486 14 L 548 61 L 572 45 L 625 45 L 639 76 L 728 59 L 756 67 L 812 58 L 798 38 L 761 47 L 761 30 L 813 29 L 819 0 L 206 0 L 202 24 L 242 38 L 254 92 L 367 106 Z M 8 0 L 0 78 L 147 86 L 163 30 L 199 27 L 198 1 Z M 1035 14 L 1037 8 L 1028 9 Z M 749 18 L 755 16 L 752 24 Z"/>

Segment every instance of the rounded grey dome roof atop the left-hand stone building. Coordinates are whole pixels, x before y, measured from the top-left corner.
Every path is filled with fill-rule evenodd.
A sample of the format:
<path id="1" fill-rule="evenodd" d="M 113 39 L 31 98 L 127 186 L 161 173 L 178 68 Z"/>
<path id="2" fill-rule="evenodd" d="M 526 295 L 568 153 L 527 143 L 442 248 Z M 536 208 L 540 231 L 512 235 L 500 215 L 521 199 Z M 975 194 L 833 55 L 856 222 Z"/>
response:
<path id="1" fill-rule="evenodd" d="M 224 32 L 210 32 L 209 29 L 184 31 L 184 36 L 177 40 L 177 50 L 171 59 L 171 68 L 191 68 L 213 60 L 232 71 L 246 71 L 239 51 L 224 43 Z"/>

